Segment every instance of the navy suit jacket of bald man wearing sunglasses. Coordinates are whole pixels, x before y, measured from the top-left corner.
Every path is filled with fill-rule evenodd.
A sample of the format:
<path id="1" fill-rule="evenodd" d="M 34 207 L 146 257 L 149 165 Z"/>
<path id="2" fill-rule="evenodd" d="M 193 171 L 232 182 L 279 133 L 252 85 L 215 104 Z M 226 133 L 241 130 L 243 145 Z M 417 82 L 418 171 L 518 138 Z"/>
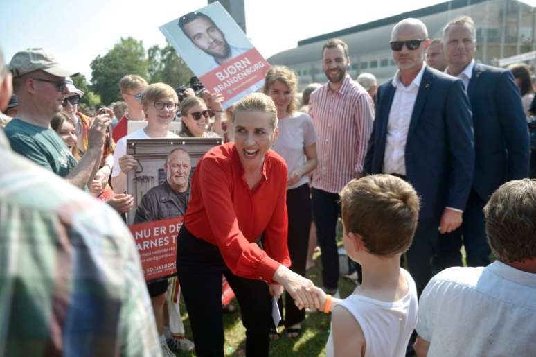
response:
<path id="1" fill-rule="evenodd" d="M 392 79 L 378 88 L 376 119 L 365 173 L 382 173 Z M 426 67 L 411 114 L 405 164 L 407 180 L 421 197 L 419 219 L 437 219 L 445 207 L 465 209 L 474 171 L 470 104 L 463 82 Z"/>

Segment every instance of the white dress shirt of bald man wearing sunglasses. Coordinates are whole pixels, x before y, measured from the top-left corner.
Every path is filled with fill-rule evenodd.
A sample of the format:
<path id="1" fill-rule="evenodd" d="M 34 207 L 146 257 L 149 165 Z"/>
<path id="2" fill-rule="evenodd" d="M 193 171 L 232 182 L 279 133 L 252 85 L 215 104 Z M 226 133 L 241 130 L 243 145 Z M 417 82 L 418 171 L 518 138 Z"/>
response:
<path id="1" fill-rule="evenodd" d="M 411 122 L 411 114 L 413 113 L 425 67 L 426 64 L 423 62 L 419 73 L 407 87 L 400 81 L 400 71 L 396 72 L 395 78 L 391 82 L 395 87 L 395 96 L 393 97 L 393 104 L 391 105 L 387 123 L 384 173 L 406 175 L 404 153 L 406 151 L 409 123 Z"/>

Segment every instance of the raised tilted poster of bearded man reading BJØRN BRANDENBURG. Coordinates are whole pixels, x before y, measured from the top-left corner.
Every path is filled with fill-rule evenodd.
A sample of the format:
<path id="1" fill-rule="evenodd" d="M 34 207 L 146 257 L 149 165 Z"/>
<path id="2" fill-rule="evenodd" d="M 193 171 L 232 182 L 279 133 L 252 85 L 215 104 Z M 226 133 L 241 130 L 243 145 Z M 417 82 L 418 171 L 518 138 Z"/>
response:
<path id="1" fill-rule="evenodd" d="M 229 107 L 262 88 L 269 64 L 219 2 L 159 27 L 188 67 Z"/>

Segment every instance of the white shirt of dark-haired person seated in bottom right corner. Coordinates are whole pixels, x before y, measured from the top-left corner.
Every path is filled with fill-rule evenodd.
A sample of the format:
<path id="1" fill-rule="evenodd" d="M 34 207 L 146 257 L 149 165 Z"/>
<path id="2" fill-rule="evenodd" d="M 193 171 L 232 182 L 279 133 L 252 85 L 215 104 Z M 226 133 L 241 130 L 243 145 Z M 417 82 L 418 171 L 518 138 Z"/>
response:
<path id="1" fill-rule="evenodd" d="M 536 274 L 500 261 L 448 268 L 419 302 L 417 333 L 429 357 L 536 356 Z"/>

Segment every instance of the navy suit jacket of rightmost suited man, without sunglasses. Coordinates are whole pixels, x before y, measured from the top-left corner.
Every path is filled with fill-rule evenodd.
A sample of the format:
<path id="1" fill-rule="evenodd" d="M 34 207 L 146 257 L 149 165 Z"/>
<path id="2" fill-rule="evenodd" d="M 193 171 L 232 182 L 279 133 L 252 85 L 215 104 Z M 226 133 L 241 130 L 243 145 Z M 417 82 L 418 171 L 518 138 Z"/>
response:
<path id="1" fill-rule="evenodd" d="M 528 177 L 528 125 L 510 71 L 476 63 L 467 96 L 474 123 L 474 189 L 487 201 L 504 182 Z"/>

